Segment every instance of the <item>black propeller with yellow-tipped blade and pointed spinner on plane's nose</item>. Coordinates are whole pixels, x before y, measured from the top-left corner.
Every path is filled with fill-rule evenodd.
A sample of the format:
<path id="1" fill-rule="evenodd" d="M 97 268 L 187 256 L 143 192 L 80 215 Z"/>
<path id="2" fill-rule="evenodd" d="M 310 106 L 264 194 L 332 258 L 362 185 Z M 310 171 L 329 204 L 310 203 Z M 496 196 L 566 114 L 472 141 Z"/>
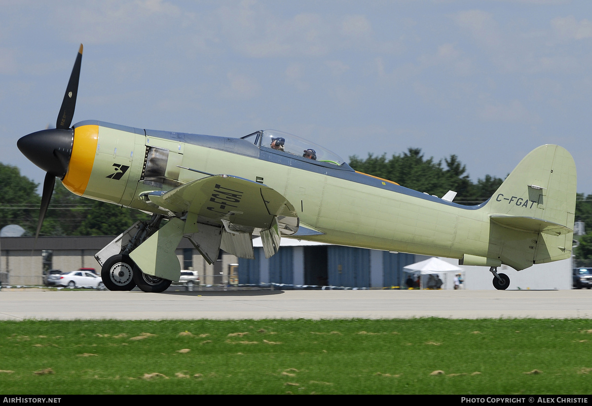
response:
<path id="1" fill-rule="evenodd" d="M 36 241 L 41 230 L 41 225 L 43 225 L 47 207 L 49 207 L 49 202 L 52 199 L 56 177 L 63 179 L 68 170 L 70 154 L 72 154 L 72 144 L 74 142 L 74 130 L 70 128 L 70 125 L 72 124 L 74 109 L 76 107 L 81 64 L 82 44 L 80 44 L 76 62 L 70 74 L 62 107 L 60 107 L 60 112 L 57 115 L 56 128 L 37 131 L 36 133 L 21 137 L 17 141 L 17 147 L 22 154 L 47 172 L 43 181 L 43 195 L 41 196 L 39 221 L 35 233 Z"/>

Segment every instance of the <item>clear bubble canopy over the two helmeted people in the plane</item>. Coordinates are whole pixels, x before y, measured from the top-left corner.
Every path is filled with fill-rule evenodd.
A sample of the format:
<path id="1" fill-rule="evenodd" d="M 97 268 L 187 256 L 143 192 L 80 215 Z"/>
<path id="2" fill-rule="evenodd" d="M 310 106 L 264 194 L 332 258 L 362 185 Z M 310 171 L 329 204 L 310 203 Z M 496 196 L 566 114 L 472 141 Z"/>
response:
<path id="1" fill-rule="evenodd" d="M 249 134 L 243 137 L 243 140 L 252 142 L 258 147 L 265 147 L 271 149 L 272 138 L 284 138 L 284 153 L 297 155 L 303 157 L 305 150 L 313 149 L 317 155 L 317 162 L 330 163 L 333 165 L 342 165 L 345 160 L 334 152 L 329 151 L 325 147 L 313 143 L 304 138 L 294 136 L 293 134 L 284 133 L 278 130 L 264 130 L 257 133 Z M 274 150 L 282 153 L 281 150 Z"/>

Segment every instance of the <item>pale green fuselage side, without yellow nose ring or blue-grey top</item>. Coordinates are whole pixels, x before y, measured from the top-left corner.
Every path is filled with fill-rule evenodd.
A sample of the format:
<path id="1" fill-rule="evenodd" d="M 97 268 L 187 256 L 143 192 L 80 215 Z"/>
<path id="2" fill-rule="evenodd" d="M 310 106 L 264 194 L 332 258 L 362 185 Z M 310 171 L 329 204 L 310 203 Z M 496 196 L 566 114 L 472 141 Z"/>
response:
<path id="1" fill-rule="evenodd" d="M 291 202 L 301 223 L 324 233 L 299 239 L 458 259 L 471 254 L 498 259 L 518 270 L 537 262 L 537 256 L 538 262 L 569 256 L 565 247 L 558 253 L 538 253 L 537 241 L 542 242 L 540 239 L 546 236 L 492 223 L 487 205 L 480 209 L 459 207 L 430 196 L 417 196 L 415 192 L 388 190 L 392 185 L 384 185 L 379 179 L 372 179 L 375 185 L 365 184 L 369 177 L 362 174 L 355 176 L 365 183 L 358 183 L 227 150 L 103 126 L 99 126 L 95 162 L 83 196 L 159 212 L 140 197 L 141 192 L 166 191 L 175 185 L 155 188 L 140 181 L 147 146 L 169 151 L 165 177 L 179 184 L 206 176 L 179 166 L 250 181 L 259 179 Z M 129 166 L 118 181 L 107 178 L 114 163 Z M 521 199 L 522 205 L 525 196 Z M 535 205 L 526 207 L 525 212 L 537 217 L 536 210 Z M 571 243 L 568 244 L 567 251 L 571 252 Z"/>

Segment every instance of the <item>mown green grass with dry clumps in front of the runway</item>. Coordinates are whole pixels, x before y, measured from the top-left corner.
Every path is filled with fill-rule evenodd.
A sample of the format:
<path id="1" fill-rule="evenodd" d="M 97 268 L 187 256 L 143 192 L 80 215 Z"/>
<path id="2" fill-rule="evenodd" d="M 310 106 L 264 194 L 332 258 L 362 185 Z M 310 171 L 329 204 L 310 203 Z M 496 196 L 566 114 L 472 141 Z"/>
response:
<path id="1" fill-rule="evenodd" d="M 591 320 L 0 322 L 1 394 L 591 392 Z"/>

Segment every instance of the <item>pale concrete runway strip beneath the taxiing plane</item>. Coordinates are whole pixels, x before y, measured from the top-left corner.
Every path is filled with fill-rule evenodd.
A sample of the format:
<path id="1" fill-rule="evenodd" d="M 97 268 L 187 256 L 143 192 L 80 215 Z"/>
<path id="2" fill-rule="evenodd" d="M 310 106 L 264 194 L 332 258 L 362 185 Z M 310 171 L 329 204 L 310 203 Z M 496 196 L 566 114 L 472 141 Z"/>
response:
<path id="1" fill-rule="evenodd" d="M 592 291 L 0 291 L 0 320 L 592 318 Z"/>

